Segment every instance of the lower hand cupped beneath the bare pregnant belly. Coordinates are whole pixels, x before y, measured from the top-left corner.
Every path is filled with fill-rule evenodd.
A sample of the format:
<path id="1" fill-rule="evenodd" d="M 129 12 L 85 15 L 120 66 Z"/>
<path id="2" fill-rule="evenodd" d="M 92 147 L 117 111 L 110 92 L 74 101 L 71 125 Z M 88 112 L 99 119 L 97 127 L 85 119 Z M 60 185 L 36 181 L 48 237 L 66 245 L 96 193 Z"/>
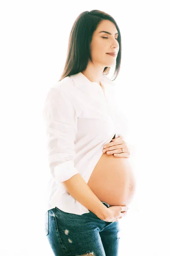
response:
<path id="1" fill-rule="evenodd" d="M 107 215 L 103 221 L 116 222 L 127 214 L 127 206 L 114 205 L 107 208 Z"/>

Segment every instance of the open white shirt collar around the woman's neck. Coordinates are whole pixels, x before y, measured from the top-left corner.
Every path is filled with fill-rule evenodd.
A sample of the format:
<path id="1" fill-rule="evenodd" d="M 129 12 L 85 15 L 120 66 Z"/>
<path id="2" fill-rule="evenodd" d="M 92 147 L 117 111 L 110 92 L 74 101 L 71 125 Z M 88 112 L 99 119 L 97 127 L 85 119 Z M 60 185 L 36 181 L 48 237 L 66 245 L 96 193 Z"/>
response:
<path id="1" fill-rule="evenodd" d="M 75 75 L 70 76 L 72 78 L 72 80 L 75 83 L 75 86 L 86 86 L 89 85 L 92 89 L 97 88 L 99 89 L 100 84 L 98 84 L 97 82 L 91 82 L 89 81 L 89 79 L 84 76 L 83 73 L 79 72 Z M 114 86 L 115 82 L 112 81 L 111 79 L 109 79 L 106 75 L 102 74 L 101 76 L 101 80 L 100 80 L 101 84 L 103 87 L 109 87 L 109 86 Z"/>

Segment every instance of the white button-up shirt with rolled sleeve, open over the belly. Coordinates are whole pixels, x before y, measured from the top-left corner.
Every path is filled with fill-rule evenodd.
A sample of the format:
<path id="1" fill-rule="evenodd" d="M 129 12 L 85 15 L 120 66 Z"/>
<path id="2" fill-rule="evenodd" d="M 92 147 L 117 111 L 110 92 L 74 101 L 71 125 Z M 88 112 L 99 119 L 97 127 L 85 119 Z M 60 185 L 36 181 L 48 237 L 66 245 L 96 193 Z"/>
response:
<path id="1" fill-rule="evenodd" d="M 83 73 L 67 76 L 50 87 L 43 117 L 46 121 L 51 178 L 46 211 L 84 214 L 89 210 L 67 192 L 62 181 L 80 173 L 88 183 L 103 146 L 123 134 L 115 105 L 115 81 L 102 75 L 101 85 Z"/>

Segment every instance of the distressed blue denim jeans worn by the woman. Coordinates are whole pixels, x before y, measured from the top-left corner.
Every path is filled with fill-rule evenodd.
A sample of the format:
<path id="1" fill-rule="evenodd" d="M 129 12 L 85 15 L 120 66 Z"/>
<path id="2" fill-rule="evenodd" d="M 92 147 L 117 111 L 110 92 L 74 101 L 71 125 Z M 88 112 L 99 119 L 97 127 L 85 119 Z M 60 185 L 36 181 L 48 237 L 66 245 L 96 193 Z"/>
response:
<path id="1" fill-rule="evenodd" d="M 102 221 L 91 211 L 77 215 L 57 207 L 45 217 L 46 236 L 55 256 L 118 255 L 118 222 Z"/>

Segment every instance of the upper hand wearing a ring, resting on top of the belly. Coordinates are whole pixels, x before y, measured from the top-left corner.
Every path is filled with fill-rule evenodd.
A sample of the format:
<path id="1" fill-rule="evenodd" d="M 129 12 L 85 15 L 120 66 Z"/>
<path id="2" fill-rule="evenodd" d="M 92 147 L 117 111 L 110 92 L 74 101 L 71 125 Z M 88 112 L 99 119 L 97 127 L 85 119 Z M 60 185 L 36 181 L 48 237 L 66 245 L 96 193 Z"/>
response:
<path id="1" fill-rule="evenodd" d="M 104 146 L 106 146 L 106 148 L 103 149 L 103 153 L 112 154 L 114 157 L 130 157 L 130 148 L 123 140 L 123 137 L 119 136 Z"/>

